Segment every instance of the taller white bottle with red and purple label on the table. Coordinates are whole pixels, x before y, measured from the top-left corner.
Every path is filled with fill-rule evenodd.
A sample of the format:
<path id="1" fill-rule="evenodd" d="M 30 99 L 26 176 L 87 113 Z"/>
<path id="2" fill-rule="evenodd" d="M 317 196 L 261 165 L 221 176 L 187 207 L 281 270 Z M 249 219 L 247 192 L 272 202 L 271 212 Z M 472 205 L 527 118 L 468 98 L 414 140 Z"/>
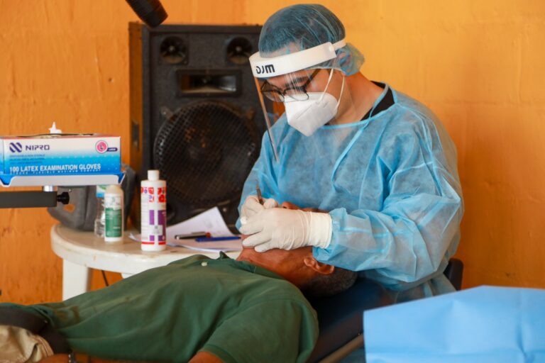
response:
<path id="1" fill-rule="evenodd" d="M 148 180 L 140 184 L 143 251 L 163 251 L 167 247 L 167 182 L 159 170 L 148 170 Z"/>

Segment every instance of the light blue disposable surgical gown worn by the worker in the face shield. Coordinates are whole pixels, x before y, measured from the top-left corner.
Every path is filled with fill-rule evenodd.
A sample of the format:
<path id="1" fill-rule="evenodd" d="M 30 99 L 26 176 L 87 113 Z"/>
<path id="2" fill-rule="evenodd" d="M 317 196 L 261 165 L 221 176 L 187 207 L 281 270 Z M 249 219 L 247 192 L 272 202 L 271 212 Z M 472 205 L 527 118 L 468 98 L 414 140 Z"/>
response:
<path id="1" fill-rule="evenodd" d="M 329 211 L 331 244 L 314 247 L 314 257 L 407 301 L 454 291 L 442 272 L 458 246 L 463 200 L 456 147 L 444 126 L 418 101 L 392 94 L 390 108 L 324 125 L 310 137 L 282 116 L 271 128 L 279 162 L 265 133 L 241 205 L 259 183 L 279 203 Z"/>

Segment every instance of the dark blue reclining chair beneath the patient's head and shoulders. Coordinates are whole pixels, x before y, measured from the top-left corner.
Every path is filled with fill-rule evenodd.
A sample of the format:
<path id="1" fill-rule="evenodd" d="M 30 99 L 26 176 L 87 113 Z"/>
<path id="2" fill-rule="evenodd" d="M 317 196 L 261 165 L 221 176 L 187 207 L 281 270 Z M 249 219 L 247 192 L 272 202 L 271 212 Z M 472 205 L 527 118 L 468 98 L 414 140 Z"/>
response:
<path id="1" fill-rule="evenodd" d="M 456 290 L 461 289 L 463 263 L 450 259 L 444 271 Z M 309 299 L 318 313 L 320 335 L 308 362 L 338 362 L 363 347 L 363 311 L 391 305 L 386 290 L 376 282 L 358 279 L 335 296 Z"/>

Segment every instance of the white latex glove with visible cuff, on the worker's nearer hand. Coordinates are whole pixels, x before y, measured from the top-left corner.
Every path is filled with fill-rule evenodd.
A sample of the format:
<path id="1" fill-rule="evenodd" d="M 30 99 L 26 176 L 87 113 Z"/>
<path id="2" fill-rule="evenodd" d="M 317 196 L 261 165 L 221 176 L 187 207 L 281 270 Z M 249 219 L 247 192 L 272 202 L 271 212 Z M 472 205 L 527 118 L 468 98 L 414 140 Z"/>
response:
<path id="1" fill-rule="evenodd" d="M 241 227 L 251 235 L 242 244 L 257 252 L 272 248 L 294 250 L 303 246 L 326 248 L 331 242 L 331 216 L 287 208 L 263 209 Z"/>

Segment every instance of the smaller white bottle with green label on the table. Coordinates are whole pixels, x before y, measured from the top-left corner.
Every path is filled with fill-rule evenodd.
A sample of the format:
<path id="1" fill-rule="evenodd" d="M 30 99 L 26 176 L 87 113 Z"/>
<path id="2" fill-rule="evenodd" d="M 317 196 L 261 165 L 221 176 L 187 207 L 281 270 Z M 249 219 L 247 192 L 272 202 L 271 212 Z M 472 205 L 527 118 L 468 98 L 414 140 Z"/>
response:
<path id="1" fill-rule="evenodd" d="M 109 185 L 104 191 L 104 242 L 123 243 L 123 190 Z"/>

